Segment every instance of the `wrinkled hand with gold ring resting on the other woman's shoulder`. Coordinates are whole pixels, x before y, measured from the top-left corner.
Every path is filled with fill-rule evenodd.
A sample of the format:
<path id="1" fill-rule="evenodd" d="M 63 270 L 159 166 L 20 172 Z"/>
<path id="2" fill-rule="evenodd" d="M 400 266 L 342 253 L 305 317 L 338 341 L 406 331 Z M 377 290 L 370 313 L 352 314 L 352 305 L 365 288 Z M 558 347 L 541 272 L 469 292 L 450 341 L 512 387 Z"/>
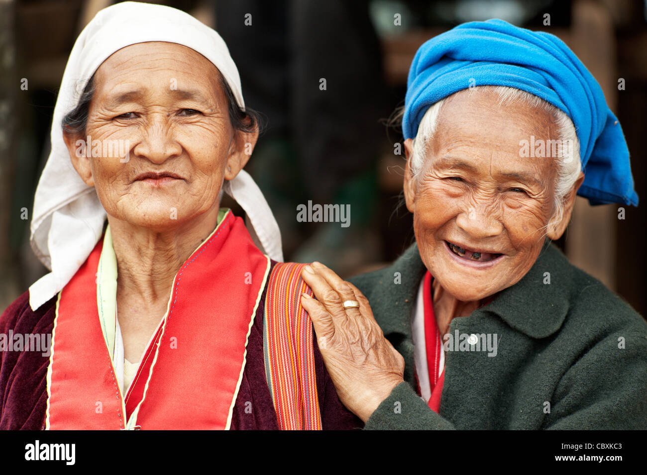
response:
<path id="1" fill-rule="evenodd" d="M 306 266 L 303 280 L 316 300 L 302 295 L 314 324 L 323 362 L 340 401 L 364 422 L 404 381 L 404 358 L 384 337 L 362 292 L 318 262 Z M 357 301 L 359 308 L 344 308 Z"/>

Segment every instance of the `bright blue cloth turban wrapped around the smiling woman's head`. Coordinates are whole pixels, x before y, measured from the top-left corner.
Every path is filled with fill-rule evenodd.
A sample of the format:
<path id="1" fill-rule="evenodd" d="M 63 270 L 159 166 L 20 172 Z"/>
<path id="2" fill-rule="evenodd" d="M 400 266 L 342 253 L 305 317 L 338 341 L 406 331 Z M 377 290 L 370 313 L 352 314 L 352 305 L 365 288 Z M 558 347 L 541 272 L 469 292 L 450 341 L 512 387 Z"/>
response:
<path id="1" fill-rule="evenodd" d="M 508 86 L 553 104 L 571 118 L 591 204 L 637 206 L 629 150 L 600 85 L 558 37 L 492 19 L 456 26 L 422 45 L 409 70 L 402 131 L 414 138 L 433 103 L 474 86 Z"/>

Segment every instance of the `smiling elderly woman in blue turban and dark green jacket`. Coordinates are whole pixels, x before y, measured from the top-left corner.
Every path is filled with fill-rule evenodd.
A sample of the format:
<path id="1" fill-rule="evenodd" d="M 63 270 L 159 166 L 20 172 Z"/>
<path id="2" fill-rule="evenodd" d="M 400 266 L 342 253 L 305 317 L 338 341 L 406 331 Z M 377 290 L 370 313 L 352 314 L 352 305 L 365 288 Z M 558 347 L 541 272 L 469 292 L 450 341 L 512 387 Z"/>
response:
<path id="1" fill-rule="evenodd" d="M 620 123 L 560 39 L 501 20 L 419 49 L 402 115 L 415 244 L 302 297 L 365 428 L 647 428 L 647 323 L 551 244 L 637 206 Z"/>

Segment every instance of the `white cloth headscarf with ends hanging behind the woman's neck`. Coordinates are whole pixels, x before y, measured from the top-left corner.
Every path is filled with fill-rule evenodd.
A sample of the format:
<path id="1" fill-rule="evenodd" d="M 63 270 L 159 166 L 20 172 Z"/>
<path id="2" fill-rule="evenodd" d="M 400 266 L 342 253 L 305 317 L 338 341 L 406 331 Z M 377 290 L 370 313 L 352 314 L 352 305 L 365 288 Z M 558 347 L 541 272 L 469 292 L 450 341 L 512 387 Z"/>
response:
<path id="1" fill-rule="evenodd" d="M 61 121 L 77 105 L 87 80 L 111 54 L 147 41 L 178 43 L 202 54 L 221 72 L 240 107 L 245 107 L 236 65 L 225 41 L 212 28 L 168 6 L 124 2 L 104 8 L 83 28 L 67 61 L 52 120 L 52 151 L 34 198 L 31 245 L 51 272 L 29 288 L 36 310 L 54 297 L 82 266 L 102 235 L 106 218 L 94 187 L 72 166 Z M 82 84 L 78 89 L 79 84 Z M 272 211 L 247 172 L 225 182 L 225 193 L 247 213 L 261 251 L 282 261 L 281 235 Z"/>

